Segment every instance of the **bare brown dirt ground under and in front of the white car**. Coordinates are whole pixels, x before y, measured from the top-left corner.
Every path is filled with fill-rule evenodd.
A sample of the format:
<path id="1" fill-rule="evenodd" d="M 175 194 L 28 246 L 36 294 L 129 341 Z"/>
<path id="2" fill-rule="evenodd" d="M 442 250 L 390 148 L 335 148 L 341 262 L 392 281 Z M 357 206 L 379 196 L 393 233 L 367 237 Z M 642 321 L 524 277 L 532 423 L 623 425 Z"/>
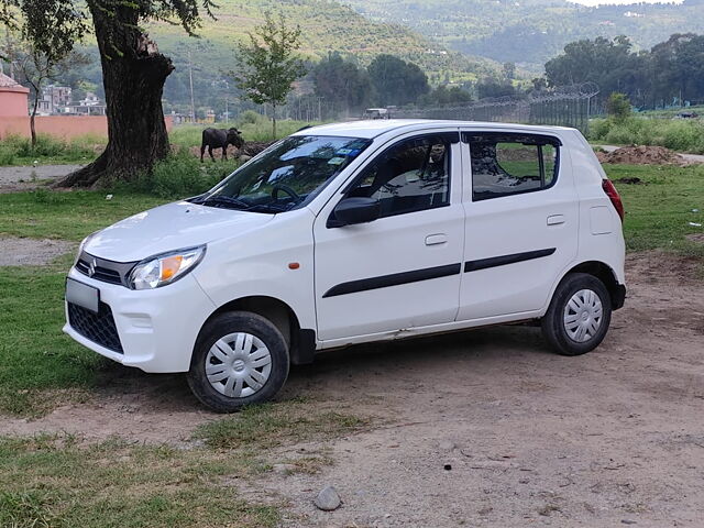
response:
<path id="1" fill-rule="evenodd" d="M 268 473 L 244 488 L 289 505 L 286 527 L 701 527 L 704 518 L 704 286 L 694 264 L 628 258 L 626 308 L 581 358 L 538 329 L 501 327 L 321 355 L 283 398 L 309 395 L 374 416 L 371 430 L 289 446 L 323 449 L 318 474 Z M 0 430 L 186 440 L 215 419 L 178 376 L 113 367 L 88 404 Z M 340 509 L 312 498 L 334 485 Z"/>

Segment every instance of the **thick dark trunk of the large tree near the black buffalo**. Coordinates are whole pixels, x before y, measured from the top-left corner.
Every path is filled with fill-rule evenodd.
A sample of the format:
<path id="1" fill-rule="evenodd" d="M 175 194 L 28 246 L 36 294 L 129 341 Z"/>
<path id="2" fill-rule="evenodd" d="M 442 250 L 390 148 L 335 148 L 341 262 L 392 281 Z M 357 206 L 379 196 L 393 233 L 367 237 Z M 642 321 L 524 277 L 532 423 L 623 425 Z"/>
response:
<path id="1" fill-rule="evenodd" d="M 113 12 L 102 3 L 88 2 L 102 65 L 108 145 L 95 162 L 59 180 L 58 187 L 131 180 L 169 153 L 162 94 L 174 69 L 172 61 L 139 30 L 139 16 L 129 2 Z"/>

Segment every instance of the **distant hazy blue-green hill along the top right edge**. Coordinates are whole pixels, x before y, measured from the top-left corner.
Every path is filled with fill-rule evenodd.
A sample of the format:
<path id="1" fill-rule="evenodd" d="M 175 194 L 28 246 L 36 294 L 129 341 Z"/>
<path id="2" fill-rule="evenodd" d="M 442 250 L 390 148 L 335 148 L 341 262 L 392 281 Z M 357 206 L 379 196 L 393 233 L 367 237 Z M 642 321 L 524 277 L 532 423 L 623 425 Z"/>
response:
<path id="1" fill-rule="evenodd" d="M 672 33 L 701 32 L 704 0 L 588 8 L 564 0 L 348 0 L 375 21 L 396 22 L 449 48 L 540 69 L 569 42 L 627 35 L 649 48 Z"/>

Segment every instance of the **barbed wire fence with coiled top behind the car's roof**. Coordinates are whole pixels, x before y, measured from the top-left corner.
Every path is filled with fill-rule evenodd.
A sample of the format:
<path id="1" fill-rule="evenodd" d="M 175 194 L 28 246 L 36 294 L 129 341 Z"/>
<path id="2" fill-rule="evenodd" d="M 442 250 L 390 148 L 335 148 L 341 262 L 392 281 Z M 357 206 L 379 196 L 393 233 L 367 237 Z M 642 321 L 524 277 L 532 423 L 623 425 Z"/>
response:
<path id="1" fill-rule="evenodd" d="M 595 82 L 583 82 L 527 96 L 480 99 L 464 105 L 403 108 L 395 110 L 393 117 L 551 124 L 572 127 L 586 133 L 593 110 L 592 99 L 598 91 Z"/>

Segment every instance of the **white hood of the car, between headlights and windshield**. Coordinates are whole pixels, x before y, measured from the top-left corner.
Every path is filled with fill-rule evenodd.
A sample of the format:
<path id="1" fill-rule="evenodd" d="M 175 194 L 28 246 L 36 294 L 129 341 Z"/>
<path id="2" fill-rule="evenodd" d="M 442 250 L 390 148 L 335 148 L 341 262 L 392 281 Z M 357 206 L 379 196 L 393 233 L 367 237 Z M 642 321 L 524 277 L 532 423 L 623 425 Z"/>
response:
<path id="1" fill-rule="evenodd" d="M 84 251 L 114 262 L 141 261 L 157 253 L 244 233 L 273 218 L 273 215 L 179 201 L 140 212 L 98 231 Z"/>

